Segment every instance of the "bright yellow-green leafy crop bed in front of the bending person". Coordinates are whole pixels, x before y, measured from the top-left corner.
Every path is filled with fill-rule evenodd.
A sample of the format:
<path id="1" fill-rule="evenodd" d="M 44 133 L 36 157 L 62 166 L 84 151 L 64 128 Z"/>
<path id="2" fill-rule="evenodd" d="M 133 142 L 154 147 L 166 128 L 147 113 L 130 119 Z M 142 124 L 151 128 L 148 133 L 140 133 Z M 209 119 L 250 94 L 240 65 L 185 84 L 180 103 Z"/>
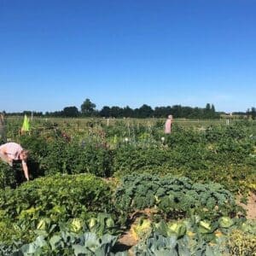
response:
<path id="1" fill-rule="evenodd" d="M 9 231 L 0 233 L 0 241 L 13 237 L 29 241 L 34 236 L 32 230 L 49 225 L 48 219 L 57 224 L 111 212 L 110 201 L 108 184 L 88 174 L 41 177 L 17 189 L 5 189 L 0 195 L 0 216 Z"/>

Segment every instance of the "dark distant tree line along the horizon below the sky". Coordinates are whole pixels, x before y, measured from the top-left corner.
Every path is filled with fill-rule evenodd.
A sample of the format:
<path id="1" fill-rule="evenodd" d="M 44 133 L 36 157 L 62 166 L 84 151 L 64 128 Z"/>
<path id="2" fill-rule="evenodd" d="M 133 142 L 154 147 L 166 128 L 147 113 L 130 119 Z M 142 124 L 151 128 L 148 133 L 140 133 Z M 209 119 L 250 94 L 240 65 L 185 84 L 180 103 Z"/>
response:
<path id="1" fill-rule="evenodd" d="M 166 118 L 168 114 L 172 114 L 174 118 L 187 119 L 218 119 L 220 113 L 215 111 L 214 105 L 207 103 L 206 108 L 183 107 L 181 105 L 173 105 L 167 107 L 151 108 L 147 104 L 143 104 L 140 108 L 120 108 L 117 106 L 104 106 L 101 110 L 96 109 L 96 104 L 90 99 L 85 99 L 81 108 L 71 106 L 65 107 L 61 111 L 55 112 L 31 112 L 24 111 L 22 113 L 5 113 L 7 115 L 22 115 L 27 114 L 33 116 L 45 117 L 105 117 L 105 118 Z M 235 114 L 235 113 L 234 113 Z M 237 112 L 236 114 L 251 116 L 255 119 L 255 108 L 248 109 L 247 112 Z"/>

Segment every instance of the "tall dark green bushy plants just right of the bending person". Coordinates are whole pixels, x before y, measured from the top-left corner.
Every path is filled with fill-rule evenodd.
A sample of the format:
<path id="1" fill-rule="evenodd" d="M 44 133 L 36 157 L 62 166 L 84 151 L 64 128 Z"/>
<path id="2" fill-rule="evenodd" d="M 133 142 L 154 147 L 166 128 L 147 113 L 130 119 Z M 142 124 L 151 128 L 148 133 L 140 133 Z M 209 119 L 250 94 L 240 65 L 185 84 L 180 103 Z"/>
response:
<path id="1" fill-rule="evenodd" d="M 111 151 L 95 142 L 61 137 L 22 136 L 24 148 L 31 151 L 28 167 L 32 177 L 56 173 L 91 173 L 99 177 L 112 175 Z"/>

